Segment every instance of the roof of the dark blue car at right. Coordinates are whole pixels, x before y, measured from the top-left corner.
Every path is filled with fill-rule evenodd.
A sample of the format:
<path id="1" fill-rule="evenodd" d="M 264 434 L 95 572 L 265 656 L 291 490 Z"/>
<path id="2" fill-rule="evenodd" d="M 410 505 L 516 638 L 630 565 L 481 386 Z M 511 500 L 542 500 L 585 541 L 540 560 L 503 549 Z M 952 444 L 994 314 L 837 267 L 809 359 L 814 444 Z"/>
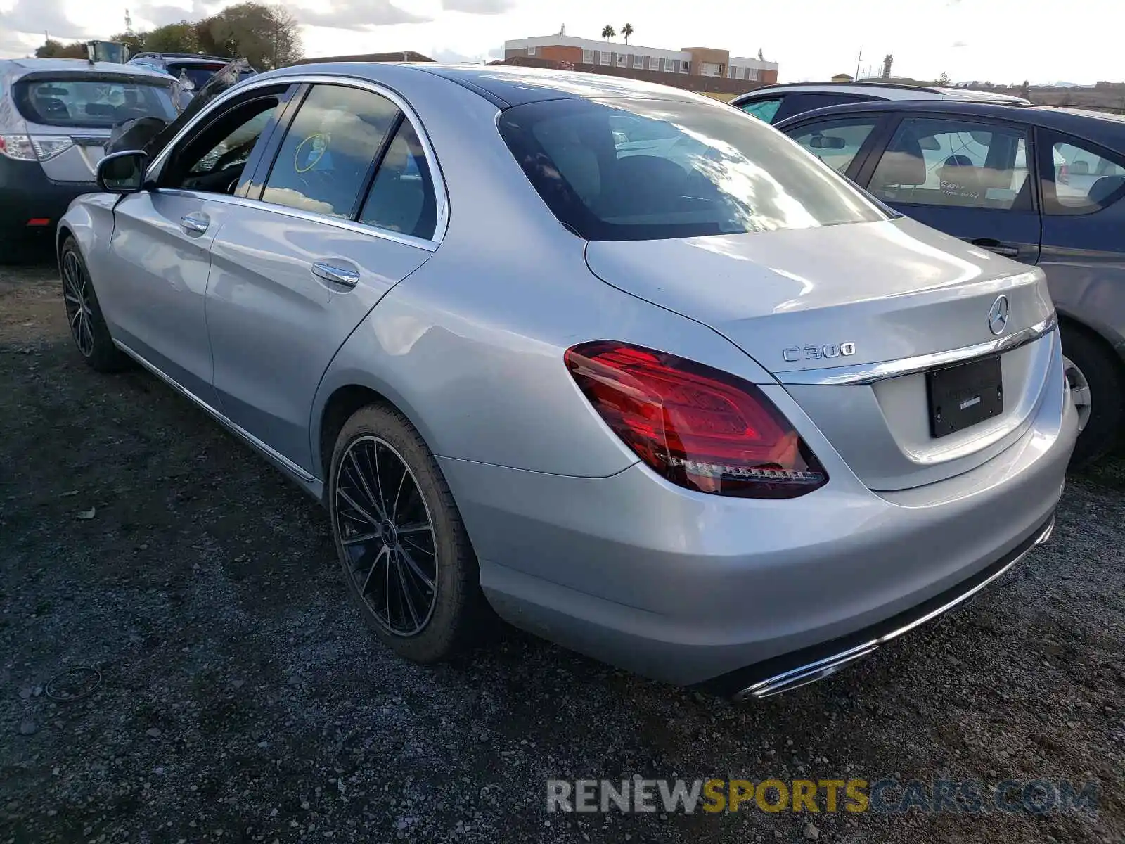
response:
<path id="1" fill-rule="evenodd" d="M 777 124 L 778 128 L 804 123 L 810 118 L 870 111 L 914 111 L 926 115 L 963 115 L 1012 120 L 1029 126 L 1042 126 L 1070 135 L 1083 137 L 1094 143 L 1125 151 L 1125 117 L 1104 111 L 1087 111 L 1077 108 L 1053 106 L 1005 106 L 994 102 L 971 102 L 966 100 L 879 100 L 874 102 L 848 102 L 827 106 L 804 114 L 794 115 Z"/>

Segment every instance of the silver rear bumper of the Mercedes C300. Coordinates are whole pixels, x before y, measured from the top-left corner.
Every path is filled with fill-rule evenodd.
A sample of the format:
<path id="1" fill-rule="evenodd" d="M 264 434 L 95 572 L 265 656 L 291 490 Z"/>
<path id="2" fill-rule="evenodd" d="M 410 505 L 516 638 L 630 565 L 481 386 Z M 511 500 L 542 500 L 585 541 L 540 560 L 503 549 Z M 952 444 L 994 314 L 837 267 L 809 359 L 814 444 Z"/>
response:
<path id="1" fill-rule="evenodd" d="M 647 676 L 734 693 L 901 627 L 897 617 L 1026 551 L 1077 437 L 1061 366 L 1048 380 L 1017 442 L 896 493 L 866 488 L 824 445 L 813 450 L 831 481 L 792 501 L 692 493 L 641 465 L 576 478 L 440 461 L 503 618 Z"/>

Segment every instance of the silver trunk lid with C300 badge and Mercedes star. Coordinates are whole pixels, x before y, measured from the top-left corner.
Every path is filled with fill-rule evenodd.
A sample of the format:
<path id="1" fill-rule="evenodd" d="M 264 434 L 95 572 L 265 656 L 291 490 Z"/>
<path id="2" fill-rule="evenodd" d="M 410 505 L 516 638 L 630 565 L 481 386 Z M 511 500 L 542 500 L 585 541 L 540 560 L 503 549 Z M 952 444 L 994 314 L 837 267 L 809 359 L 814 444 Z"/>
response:
<path id="1" fill-rule="evenodd" d="M 834 383 L 868 365 L 979 347 L 1054 318 L 1042 272 L 900 218 L 662 241 L 596 241 L 608 284 L 702 322 L 770 371 L 871 488 L 966 472 L 1029 424 L 1054 335 L 1001 356 L 1004 411 L 929 436 L 926 375 Z M 989 314 L 1008 299 L 993 334 Z M 839 380 L 848 380 L 843 377 Z"/>

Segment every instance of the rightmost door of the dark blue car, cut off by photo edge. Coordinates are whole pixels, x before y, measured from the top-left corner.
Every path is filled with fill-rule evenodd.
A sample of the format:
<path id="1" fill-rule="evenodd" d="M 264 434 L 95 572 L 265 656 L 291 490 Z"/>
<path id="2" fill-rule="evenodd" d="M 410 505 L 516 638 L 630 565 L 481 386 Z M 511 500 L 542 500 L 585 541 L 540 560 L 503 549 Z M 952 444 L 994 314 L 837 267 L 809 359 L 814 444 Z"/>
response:
<path id="1" fill-rule="evenodd" d="M 1037 129 L 1043 173 L 1040 266 L 1059 309 L 1125 338 L 1125 154 Z"/>

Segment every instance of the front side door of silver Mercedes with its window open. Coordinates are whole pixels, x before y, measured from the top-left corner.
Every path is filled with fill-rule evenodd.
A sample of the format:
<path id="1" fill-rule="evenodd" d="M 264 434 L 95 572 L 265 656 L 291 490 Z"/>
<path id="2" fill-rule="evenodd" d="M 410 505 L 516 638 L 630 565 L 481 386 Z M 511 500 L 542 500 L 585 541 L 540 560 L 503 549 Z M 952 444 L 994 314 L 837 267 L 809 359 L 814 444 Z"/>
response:
<path id="1" fill-rule="evenodd" d="M 114 335 L 209 405 L 212 243 L 233 209 L 224 200 L 245 190 L 289 92 L 255 90 L 207 111 L 154 162 L 150 189 L 123 197 L 114 210 L 104 297 Z"/>

